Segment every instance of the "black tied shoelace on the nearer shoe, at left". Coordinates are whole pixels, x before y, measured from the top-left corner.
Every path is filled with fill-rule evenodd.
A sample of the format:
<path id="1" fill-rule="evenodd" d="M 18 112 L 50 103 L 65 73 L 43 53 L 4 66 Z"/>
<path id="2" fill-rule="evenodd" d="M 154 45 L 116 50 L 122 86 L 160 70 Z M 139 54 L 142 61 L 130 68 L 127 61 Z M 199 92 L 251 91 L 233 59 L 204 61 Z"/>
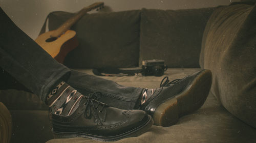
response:
<path id="1" fill-rule="evenodd" d="M 99 95 L 99 96 L 98 96 Z M 102 108 L 99 110 L 99 112 L 101 113 L 103 111 L 103 108 L 105 106 L 107 106 L 105 103 L 100 102 L 98 99 L 100 99 L 102 96 L 102 94 L 100 92 L 95 92 L 92 94 L 89 94 L 87 98 L 86 103 L 83 103 L 84 106 L 86 106 L 86 109 L 84 111 L 84 118 L 88 118 L 91 119 L 92 118 L 92 111 L 91 111 L 91 107 L 94 110 L 95 114 L 95 118 L 99 121 L 99 123 L 102 125 L 102 122 L 99 118 L 98 112 L 96 111 L 99 107 L 99 105 L 102 105 Z M 97 105 L 95 107 L 94 102 L 97 102 Z M 88 112 L 87 112 L 88 111 Z"/>

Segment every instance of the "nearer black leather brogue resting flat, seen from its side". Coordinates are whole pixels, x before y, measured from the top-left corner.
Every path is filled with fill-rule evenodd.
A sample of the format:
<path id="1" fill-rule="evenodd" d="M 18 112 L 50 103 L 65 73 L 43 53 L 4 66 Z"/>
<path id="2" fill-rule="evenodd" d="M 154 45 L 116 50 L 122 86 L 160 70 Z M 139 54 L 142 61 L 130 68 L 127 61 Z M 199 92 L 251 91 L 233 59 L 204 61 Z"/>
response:
<path id="1" fill-rule="evenodd" d="M 50 112 L 52 132 L 57 138 L 86 137 L 114 141 L 138 136 L 153 125 L 143 110 L 121 110 L 95 99 L 97 94 L 82 97 L 70 116 Z"/>

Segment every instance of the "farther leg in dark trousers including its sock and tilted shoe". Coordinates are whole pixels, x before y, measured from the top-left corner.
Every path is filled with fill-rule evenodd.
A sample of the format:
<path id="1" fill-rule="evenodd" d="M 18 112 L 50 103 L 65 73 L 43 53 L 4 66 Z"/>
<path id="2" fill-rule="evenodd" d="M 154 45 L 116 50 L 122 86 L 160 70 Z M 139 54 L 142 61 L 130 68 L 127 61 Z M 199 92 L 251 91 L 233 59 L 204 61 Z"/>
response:
<path id="1" fill-rule="evenodd" d="M 155 125 L 165 127 L 203 105 L 212 78 L 209 70 L 201 70 L 173 81 L 165 77 L 157 89 L 142 89 L 75 70 L 71 73 L 68 83 L 82 94 L 101 92 L 105 103 L 122 109 L 144 110 L 153 117 Z"/>

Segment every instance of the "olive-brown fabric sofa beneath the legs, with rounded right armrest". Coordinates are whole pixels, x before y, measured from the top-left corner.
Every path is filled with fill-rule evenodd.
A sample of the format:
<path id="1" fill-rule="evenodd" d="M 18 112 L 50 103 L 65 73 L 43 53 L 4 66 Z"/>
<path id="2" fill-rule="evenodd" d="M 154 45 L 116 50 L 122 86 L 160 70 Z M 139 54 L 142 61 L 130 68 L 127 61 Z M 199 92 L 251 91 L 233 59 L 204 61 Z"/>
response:
<path id="1" fill-rule="evenodd" d="M 73 16 L 48 15 L 49 30 Z M 256 8 L 254 3 L 187 10 L 141 9 L 84 15 L 71 27 L 79 45 L 64 62 L 93 75 L 93 68 L 138 68 L 161 59 L 163 76 L 101 76 L 119 84 L 157 88 L 163 77 L 183 78 L 212 71 L 204 105 L 170 127 L 115 142 L 256 142 Z M 42 31 L 45 29 L 42 28 Z M 54 139 L 48 107 L 31 93 L 0 91 L 12 116 L 11 142 L 100 142 L 87 138 Z"/>

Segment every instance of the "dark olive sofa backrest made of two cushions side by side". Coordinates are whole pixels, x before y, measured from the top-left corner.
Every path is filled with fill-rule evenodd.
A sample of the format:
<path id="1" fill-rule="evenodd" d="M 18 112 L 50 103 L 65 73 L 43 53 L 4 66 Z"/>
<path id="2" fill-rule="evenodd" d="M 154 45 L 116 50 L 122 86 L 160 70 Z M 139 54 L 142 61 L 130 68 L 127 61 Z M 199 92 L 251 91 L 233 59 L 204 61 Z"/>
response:
<path id="1" fill-rule="evenodd" d="M 214 8 L 94 13 L 84 15 L 71 30 L 79 45 L 65 65 L 70 68 L 130 68 L 143 60 L 165 60 L 170 68 L 199 68 L 204 27 Z M 73 13 L 49 14 L 49 30 Z"/>

